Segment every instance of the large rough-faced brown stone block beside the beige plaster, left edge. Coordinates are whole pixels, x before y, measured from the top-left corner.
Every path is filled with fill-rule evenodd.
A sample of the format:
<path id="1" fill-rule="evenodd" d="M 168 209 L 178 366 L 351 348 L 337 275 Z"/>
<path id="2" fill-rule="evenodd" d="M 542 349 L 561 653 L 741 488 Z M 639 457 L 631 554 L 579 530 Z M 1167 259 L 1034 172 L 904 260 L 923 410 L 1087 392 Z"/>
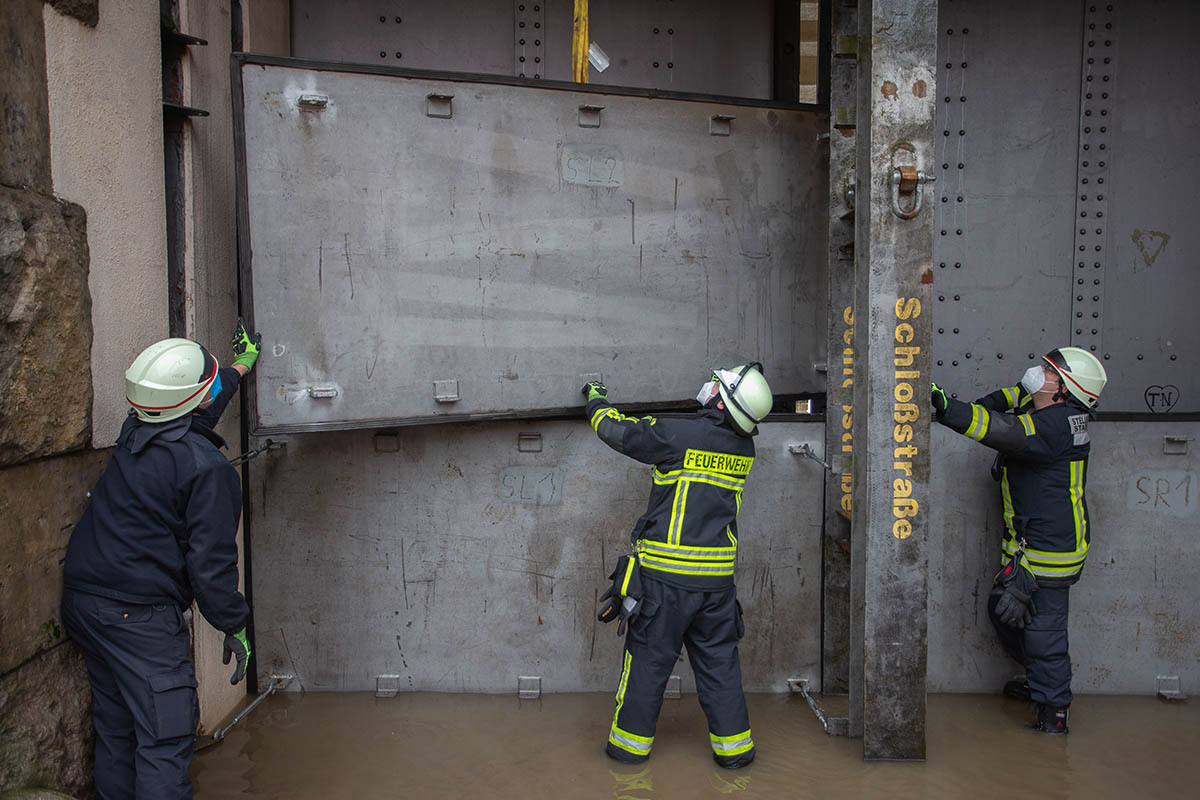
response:
<path id="1" fill-rule="evenodd" d="M 91 435 L 91 299 L 83 209 L 0 186 L 0 465 Z"/>

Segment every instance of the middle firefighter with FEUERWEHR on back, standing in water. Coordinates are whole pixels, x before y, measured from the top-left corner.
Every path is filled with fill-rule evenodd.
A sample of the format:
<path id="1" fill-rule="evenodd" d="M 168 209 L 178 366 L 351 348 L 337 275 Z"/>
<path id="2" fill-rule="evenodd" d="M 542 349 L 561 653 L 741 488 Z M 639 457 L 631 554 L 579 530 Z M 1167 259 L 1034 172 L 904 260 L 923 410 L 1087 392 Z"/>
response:
<path id="1" fill-rule="evenodd" d="M 649 506 L 630 534 L 635 554 L 614 572 L 613 591 L 628 595 L 625 608 L 634 613 L 607 753 L 625 763 L 649 758 L 662 691 L 685 644 L 713 758 L 744 766 L 755 746 L 742 691 L 744 625 L 733 566 L 742 489 L 755 457 L 751 437 L 772 407 L 762 365 L 716 369 L 694 417 L 625 416 L 608 404 L 602 385 L 583 391 L 601 441 L 653 464 Z"/>

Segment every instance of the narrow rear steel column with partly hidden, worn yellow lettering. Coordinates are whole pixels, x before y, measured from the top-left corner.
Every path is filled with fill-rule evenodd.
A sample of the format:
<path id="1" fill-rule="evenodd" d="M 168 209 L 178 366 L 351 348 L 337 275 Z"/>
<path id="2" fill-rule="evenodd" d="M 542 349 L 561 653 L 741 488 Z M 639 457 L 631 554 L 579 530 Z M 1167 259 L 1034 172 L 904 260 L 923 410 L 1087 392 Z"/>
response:
<path id="1" fill-rule="evenodd" d="M 854 116 L 858 112 L 858 1 L 830 4 L 829 361 L 826 390 L 821 691 L 850 688 L 850 518 L 854 452 Z"/>

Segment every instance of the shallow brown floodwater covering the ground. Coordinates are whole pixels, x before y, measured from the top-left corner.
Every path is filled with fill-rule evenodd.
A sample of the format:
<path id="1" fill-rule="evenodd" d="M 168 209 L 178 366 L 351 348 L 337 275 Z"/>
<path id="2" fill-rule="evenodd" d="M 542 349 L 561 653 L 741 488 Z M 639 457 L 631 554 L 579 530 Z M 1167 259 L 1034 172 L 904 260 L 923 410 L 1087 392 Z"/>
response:
<path id="1" fill-rule="evenodd" d="M 192 780 L 198 800 L 1200 796 L 1198 700 L 1078 697 L 1072 733 L 1049 736 L 1022 727 L 1027 704 L 934 694 L 928 759 L 907 763 L 864 762 L 798 694 L 748 700 L 758 757 L 730 771 L 695 694 L 664 703 L 650 760 L 626 766 L 604 753 L 611 693 L 282 693 L 197 752 Z"/>

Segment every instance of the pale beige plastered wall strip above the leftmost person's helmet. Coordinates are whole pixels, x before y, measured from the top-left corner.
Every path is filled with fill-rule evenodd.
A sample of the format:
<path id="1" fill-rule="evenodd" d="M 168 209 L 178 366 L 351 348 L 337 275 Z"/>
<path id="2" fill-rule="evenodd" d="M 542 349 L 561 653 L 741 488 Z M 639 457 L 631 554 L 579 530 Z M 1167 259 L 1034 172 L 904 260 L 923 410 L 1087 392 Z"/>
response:
<path id="1" fill-rule="evenodd" d="M 106 0 L 95 28 L 50 6 L 43 19 L 54 192 L 88 212 L 92 443 L 107 447 L 126 367 L 167 336 L 158 6 Z"/>

